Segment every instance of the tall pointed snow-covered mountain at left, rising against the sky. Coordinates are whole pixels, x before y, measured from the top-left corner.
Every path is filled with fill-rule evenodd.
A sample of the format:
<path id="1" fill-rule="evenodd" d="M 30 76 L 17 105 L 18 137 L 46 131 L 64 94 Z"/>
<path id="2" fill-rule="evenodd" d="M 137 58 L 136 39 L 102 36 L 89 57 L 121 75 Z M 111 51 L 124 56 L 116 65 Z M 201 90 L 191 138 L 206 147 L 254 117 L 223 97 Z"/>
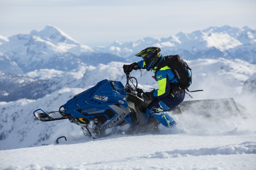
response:
<path id="1" fill-rule="evenodd" d="M 72 70 L 79 65 L 124 60 L 113 54 L 96 52 L 50 25 L 39 32 L 33 30 L 28 35 L 18 34 L 8 38 L 1 36 L 0 40 L 0 52 L 16 62 L 17 68 L 25 73 L 41 68 Z M 0 71 L 11 73 L 2 67 Z"/>

